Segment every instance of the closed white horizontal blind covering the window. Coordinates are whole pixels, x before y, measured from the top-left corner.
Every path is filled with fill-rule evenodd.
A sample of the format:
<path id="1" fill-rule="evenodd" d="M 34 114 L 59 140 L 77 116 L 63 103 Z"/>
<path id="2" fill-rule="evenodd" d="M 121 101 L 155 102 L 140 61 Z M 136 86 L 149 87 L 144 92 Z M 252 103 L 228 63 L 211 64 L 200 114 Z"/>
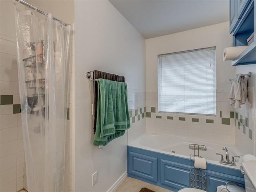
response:
<path id="1" fill-rule="evenodd" d="M 215 47 L 158 56 L 158 111 L 216 115 Z"/>

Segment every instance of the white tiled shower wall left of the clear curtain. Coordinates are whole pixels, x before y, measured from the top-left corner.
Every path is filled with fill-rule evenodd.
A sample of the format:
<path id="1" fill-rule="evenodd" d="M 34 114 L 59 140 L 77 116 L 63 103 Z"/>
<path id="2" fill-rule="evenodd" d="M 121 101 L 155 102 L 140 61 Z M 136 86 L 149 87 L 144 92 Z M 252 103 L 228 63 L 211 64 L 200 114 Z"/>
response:
<path id="1" fill-rule="evenodd" d="M 14 37 L 0 34 L 0 95 L 13 95 L 20 104 L 18 70 Z M 25 170 L 24 144 L 20 114 L 13 114 L 13 105 L 0 107 L 0 191 L 23 188 Z"/>

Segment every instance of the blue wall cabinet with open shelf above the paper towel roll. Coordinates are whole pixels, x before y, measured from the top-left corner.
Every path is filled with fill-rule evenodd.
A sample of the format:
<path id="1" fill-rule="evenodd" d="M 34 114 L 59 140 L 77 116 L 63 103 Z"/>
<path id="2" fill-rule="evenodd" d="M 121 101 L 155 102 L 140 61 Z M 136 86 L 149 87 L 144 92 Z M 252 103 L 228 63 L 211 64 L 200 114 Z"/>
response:
<path id="1" fill-rule="evenodd" d="M 230 0 L 230 34 L 232 46 L 247 46 L 247 39 L 256 28 L 254 0 Z M 232 66 L 256 64 L 256 41 L 252 42 L 236 59 Z"/>

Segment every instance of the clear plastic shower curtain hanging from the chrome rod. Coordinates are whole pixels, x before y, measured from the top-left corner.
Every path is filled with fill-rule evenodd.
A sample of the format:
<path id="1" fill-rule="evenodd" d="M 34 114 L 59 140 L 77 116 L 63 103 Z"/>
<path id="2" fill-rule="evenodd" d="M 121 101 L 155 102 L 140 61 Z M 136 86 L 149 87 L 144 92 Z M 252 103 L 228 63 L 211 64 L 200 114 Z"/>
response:
<path id="1" fill-rule="evenodd" d="M 71 26 L 15 14 L 28 191 L 63 192 Z"/>

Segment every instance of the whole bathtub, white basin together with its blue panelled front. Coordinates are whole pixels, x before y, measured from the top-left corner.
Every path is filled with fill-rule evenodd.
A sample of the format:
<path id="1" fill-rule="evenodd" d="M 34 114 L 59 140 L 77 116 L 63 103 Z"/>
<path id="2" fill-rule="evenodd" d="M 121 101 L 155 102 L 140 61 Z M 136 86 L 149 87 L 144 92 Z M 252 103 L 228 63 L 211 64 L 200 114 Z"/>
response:
<path id="1" fill-rule="evenodd" d="M 206 159 L 205 172 L 206 191 L 214 192 L 217 186 L 235 182 L 244 186 L 244 176 L 240 171 L 242 158 L 236 158 L 237 166 L 220 164 L 220 155 L 226 155 L 222 147 L 228 148 L 230 160 L 232 156 L 240 156 L 235 146 L 206 142 L 175 136 L 144 133 L 127 146 L 128 176 L 148 182 L 174 192 L 190 187 L 190 177 L 193 174 L 194 162 L 191 158 L 194 150 L 189 144 L 206 146 L 206 151 L 199 151 L 199 156 Z M 198 152 L 198 151 L 197 151 Z M 198 153 L 196 153 L 198 155 Z"/>

